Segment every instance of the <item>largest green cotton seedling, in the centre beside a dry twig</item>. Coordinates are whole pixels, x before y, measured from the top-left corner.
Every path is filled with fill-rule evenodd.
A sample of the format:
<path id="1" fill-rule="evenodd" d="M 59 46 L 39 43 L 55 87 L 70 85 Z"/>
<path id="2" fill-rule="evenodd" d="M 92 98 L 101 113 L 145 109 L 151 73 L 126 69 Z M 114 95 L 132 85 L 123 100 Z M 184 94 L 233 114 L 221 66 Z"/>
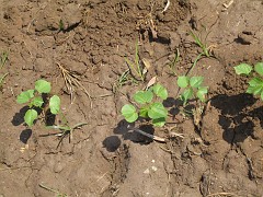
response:
<path id="1" fill-rule="evenodd" d="M 142 117 L 150 118 L 153 126 L 162 127 L 168 116 L 168 111 L 163 106 L 162 101 L 167 100 L 167 97 L 168 91 L 161 84 L 156 84 L 146 91 L 138 91 L 134 94 L 134 100 L 138 107 L 126 104 L 122 108 L 122 115 L 128 123 L 134 123 L 138 117 Z"/>

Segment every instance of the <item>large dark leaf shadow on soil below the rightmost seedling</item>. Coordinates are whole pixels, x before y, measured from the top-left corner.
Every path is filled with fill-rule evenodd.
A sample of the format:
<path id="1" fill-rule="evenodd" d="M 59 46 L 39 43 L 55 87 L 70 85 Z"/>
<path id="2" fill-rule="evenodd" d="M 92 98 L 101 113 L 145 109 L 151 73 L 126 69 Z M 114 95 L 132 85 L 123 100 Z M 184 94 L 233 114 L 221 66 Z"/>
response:
<path id="1" fill-rule="evenodd" d="M 222 138 L 227 142 L 243 142 L 249 136 L 253 137 L 254 124 L 251 117 L 254 117 L 254 113 L 248 113 L 245 108 L 252 106 L 255 101 L 250 94 L 221 94 L 211 99 L 211 106 L 221 112 L 218 124 L 224 129 Z"/>

